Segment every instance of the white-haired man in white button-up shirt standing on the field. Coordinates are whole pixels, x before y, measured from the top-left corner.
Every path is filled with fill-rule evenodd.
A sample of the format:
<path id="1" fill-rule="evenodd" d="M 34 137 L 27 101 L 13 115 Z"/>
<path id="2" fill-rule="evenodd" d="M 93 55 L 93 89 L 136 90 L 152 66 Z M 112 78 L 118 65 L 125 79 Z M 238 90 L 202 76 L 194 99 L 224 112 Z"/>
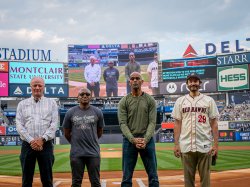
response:
<path id="1" fill-rule="evenodd" d="M 16 125 L 22 149 L 22 187 L 32 186 L 36 160 L 43 186 L 53 187 L 53 143 L 58 123 L 58 108 L 54 100 L 43 96 L 44 80 L 34 77 L 30 83 L 32 96 L 17 106 Z"/>

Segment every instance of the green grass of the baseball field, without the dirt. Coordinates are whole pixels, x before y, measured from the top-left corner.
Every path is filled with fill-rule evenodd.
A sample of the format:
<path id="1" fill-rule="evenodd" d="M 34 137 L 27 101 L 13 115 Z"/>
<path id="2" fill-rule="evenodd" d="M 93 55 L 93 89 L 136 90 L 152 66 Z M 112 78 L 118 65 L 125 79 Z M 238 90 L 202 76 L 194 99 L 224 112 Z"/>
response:
<path id="1" fill-rule="evenodd" d="M 173 148 L 172 143 L 157 143 L 157 147 Z M 220 143 L 220 146 L 250 146 L 250 142 Z M 121 144 L 101 144 L 101 148 L 121 148 Z M 20 150 L 20 146 L 2 146 L 0 150 Z M 69 148 L 69 145 L 56 145 L 55 150 Z M 111 151 L 111 150 L 109 150 Z M 56 152 L 56 151 L 55 151 Z M 175 158 L 172 150 L 157 150 L 158 170 L 182 169 L 181 160 Z M 250 168 L 250 150 L 221 150 L 214 171 Z M 121 158 L 102 158 L 102 171 L 121 170 Z M 138 159 L 136 170 L 144 170 L 141 159 Z M 54 172 L 70 172 L 69 153 L 55 153 Z M 36 166 L 38 172 L 38 166 Z M 0 155 L 1 175 L 21 175 L 19 154 Z"/>

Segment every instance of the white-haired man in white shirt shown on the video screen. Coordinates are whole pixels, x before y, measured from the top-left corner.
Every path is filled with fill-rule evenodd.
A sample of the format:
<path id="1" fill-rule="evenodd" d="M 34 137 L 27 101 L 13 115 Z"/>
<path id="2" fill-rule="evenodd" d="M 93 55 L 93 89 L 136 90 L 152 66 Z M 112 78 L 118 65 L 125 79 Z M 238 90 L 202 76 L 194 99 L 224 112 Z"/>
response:
<path id="1" fill-rule="evenodd" d="M 99 97 L 101 73 L 101 67 L 96 64 L 96 57 L 91 56 L 90 64 L 84 69 L 84 78 L 87 81 L 87 88 L 91 91 L 91 95 L 94 92 L 95 97 Z"/>

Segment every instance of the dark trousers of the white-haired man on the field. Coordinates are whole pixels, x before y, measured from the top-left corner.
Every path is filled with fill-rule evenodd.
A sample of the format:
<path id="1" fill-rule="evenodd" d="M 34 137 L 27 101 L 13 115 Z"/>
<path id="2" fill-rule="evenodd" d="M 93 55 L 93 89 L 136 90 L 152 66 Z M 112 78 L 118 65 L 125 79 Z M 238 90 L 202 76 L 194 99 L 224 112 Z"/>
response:
<path id="1" fill-rule="evenodd" d="M 22 187 L 32 187 L 36 160 L 40 170 L 43 187 L 53 187 L 52 166 L 54 164 L 52 141 L 44 143 L 42 151 L 35 151 L 30 144 L 23 141 L 20 161 L 22 166 Z"/>

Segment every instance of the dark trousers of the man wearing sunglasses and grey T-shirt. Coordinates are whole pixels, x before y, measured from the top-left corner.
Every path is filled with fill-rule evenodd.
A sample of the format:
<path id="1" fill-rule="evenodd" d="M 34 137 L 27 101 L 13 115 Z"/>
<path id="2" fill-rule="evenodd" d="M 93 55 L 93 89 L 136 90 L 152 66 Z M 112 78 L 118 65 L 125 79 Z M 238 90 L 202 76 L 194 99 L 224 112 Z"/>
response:
<path id="1" fill-rule="evenodd" d="M 91 187 L 101 187 L 100 157 L 70 157 L 72 187 L 81 187 L 85 165 L 88 169 Z"/>

